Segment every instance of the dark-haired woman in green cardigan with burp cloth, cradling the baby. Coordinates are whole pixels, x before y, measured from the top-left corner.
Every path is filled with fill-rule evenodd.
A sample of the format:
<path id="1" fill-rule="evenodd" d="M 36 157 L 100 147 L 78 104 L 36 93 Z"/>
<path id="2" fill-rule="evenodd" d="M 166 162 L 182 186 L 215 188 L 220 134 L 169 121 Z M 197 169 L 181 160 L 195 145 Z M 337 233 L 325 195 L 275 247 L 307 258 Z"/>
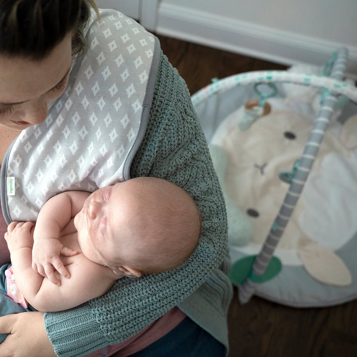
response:
<path id="1" fill-rule="evenodd" d="M 102 11 L 98 21 L 90 5 L 0 1 L 6 223 L 36 219 L 60 191 L 94 191 L 154 176 L 193 197 L 202 216 L 200 243 L 179 268 L 124 278 L 77 308 L 1 317 L 0 333 L 10 335 L 0 357 L 93 351 L 91 356 L 225 356 L 232 296 L 226 213 L 189 93 L 153 35 L 113 10 Z M 3 222 L 3 233 L 5 227 Z M 7 254 L 2 243 L 2 262 Z"/>

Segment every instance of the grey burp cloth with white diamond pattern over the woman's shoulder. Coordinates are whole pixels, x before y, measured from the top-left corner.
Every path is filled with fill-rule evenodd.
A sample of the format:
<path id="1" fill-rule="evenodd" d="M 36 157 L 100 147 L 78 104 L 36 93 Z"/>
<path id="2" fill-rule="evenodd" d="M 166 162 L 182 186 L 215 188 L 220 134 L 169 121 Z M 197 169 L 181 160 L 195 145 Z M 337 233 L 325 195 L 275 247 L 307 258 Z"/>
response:
<path id="1" fill-rule="evenodd" d="M 88 50 L 73 60 L 67 88 L 46 121 L 23 130 L 8 150 L 6 177 L 14 178 L 15 195 L 2 196 L 7 221 L 36 220 L 42 205 L 61 191 L 94 191 L 129 179 L 159 46 L 114 10 L 101 10 L 101 22 L 93 13 L 86 38 Z"/>

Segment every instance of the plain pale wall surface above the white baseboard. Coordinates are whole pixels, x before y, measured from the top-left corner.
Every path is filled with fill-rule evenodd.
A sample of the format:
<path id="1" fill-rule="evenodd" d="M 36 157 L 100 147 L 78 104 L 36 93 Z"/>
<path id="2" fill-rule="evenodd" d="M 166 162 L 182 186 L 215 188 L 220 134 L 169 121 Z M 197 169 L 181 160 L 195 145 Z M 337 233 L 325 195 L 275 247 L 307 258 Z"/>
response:
<path id="1" fill-rule="evenodd" d="M 163 0 L 166 4 L 326 41 L 357 45 L 356 0 Z"/>

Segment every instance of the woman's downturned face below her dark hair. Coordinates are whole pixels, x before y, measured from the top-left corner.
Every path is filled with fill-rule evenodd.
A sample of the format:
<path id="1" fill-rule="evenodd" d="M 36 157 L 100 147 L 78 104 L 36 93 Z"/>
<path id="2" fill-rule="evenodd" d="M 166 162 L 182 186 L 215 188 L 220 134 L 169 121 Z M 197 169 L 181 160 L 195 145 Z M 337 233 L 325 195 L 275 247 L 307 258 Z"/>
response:
<path id="1" fill-rule="evenodd" d="M 23 130 L 45 121 L 67 85 L 71 43 L 68 33 L 43 60 L 0 55 L 0 125 Z"/>

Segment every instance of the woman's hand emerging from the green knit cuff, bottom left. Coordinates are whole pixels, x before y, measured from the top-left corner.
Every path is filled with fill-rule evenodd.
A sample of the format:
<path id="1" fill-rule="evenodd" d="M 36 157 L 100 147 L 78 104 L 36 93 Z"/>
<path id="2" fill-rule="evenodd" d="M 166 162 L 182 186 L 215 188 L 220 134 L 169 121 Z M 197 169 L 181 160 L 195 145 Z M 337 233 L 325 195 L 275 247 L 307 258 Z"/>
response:
<path id="1" fill-rule="evenodd" d="M 43 312 L 21 312 L 0 317 L 0 357 L 56 357 L 47 337 Z"/>

